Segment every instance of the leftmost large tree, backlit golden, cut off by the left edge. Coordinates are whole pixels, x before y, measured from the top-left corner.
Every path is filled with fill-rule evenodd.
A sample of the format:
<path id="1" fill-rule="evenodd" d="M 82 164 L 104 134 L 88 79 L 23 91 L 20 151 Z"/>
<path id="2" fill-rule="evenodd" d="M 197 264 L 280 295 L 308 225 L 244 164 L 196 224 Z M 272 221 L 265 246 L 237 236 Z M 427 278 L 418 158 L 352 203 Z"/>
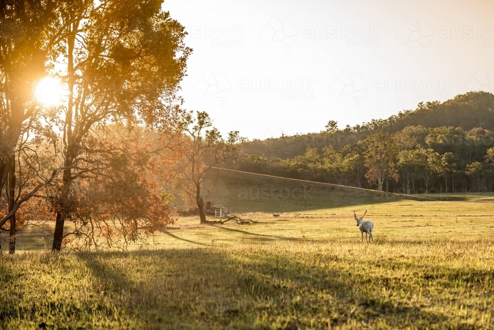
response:
<path id="1" fill-rule="evenodd" d="M 27 172 L 18 158 L 43 109 L 35 86 L 46 74 L 50 47 L 61 38 L 54 24 L 60 2 L 0 1 L 0 199 L 3 193 L 7 199 L 0 228 L 10 221 L 10 252 L 15 249 L 16 212 L 46 183 L 26 185 L 21 174 Z"/>

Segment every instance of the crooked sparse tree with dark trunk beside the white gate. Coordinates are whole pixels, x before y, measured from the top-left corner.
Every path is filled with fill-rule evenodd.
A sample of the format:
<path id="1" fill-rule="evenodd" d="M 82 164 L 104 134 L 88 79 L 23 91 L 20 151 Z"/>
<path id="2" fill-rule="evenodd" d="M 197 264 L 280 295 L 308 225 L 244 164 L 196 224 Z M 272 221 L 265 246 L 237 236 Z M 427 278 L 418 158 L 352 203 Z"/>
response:
<path id="1" fill-rule="evenodd" d="M 241 156 L 239 143 L 245 139 L 238 131 L 232 131 L 225 140 L 219 131 L 212 127 L 212 120 L 204 111 L 198 111 L 197 117 L 189 112 L 182 123 L 184 132 L 183 144 L 180 150 L 183 157 L 178 162 L 176 186 L 179 187 L 185 199 L 194 201 L 199 210 L 202 224 L 207 223 L 202 196 L 204 175 L 213 166 L 226 163 L 235 165 Z"/>

